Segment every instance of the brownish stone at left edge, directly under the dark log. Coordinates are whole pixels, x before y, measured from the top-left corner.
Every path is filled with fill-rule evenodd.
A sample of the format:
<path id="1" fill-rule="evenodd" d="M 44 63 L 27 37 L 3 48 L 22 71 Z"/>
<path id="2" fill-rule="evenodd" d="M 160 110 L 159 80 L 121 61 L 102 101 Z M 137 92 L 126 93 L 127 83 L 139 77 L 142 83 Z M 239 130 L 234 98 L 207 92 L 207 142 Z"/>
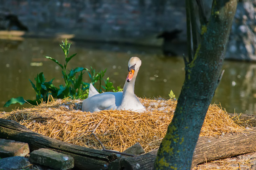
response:
<path id="1" fill-rule="evenodd" d="M 0 158 L 26 156 L 29 153 L 27 143 L 0 139 Z"/>

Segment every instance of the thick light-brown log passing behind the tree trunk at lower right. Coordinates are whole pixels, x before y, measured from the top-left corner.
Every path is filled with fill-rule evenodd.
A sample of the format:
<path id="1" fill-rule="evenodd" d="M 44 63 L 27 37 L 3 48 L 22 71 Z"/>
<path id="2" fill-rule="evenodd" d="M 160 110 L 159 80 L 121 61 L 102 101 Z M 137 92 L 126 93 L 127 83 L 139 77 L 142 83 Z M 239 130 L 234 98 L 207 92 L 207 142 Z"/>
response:
<path id="1" fill-rule="evenodd" d="M 235 155 L 256 152 L 256 128 L 244 133 L 226 134 L 220 138 L 200 137 L 194 151 L 192 167 L 205 160 L 228 158 Z M 109 170 L 153 170 L 157 150 L 137 157 L 119 158 L 108 166 Z"/>

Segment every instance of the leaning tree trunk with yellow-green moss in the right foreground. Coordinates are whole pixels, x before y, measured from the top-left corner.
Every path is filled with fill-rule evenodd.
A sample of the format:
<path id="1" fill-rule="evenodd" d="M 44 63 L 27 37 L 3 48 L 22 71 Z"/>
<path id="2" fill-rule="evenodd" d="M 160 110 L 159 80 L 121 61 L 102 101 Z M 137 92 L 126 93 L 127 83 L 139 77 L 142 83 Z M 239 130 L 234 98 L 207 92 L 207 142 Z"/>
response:
<path id="1" fill-rule="evenodd" d="M 197 0 L 200 4 L 200 0 Z M 190 12 L 188 28 L 191 28 L 192 42 L 189 61 L 185 61 L 185 80 L 172 122 L 163 139 L 155 161 L 157 170 L 190 170 L 197 139 L 206 112 L 220 81 L 237 0 L 213 0 L 208 22 L 201 22 L 200 42 L 195 35 L 192 0 L 186 1 Z M 200 5 L 199 9 L 200 9 Z M 190 34 L 190 31 L 189 31 Z M 189 36 L 189 35 L 188 35 Z M 190 40 L 189 40 L 190 41 Z M 195 43 L 198 43 L 195 44 Z M 192 47 L 193 46 L 193 47 Z"/>

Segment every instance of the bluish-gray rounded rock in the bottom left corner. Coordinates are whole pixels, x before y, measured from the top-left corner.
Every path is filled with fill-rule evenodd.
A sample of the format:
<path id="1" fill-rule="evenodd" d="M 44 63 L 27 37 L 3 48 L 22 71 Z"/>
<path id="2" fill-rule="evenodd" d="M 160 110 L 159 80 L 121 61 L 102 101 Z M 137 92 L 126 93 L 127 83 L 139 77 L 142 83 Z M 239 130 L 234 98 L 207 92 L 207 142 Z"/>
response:
<path id="1" fill-rule="evenodd" d="M 23 168 L 29 168 L 31 163 L 27 158 L 21 156 L 14 156 L 0 159 L 0 170 L 19 170 Z"/>

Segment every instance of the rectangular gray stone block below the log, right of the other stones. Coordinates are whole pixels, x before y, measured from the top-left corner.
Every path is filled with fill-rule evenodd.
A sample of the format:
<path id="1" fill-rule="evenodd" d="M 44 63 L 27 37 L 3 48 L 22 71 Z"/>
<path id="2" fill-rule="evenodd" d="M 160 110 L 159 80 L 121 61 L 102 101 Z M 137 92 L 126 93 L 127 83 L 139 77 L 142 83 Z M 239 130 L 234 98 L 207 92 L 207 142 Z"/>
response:
<path id="1" fill-rule="evenodd" d="M 67 170 L 74 167 L 74 158 L 49 149 L 38 149 L 30 153 L 32 163 L 48 166 L 54 169 Z"/>

